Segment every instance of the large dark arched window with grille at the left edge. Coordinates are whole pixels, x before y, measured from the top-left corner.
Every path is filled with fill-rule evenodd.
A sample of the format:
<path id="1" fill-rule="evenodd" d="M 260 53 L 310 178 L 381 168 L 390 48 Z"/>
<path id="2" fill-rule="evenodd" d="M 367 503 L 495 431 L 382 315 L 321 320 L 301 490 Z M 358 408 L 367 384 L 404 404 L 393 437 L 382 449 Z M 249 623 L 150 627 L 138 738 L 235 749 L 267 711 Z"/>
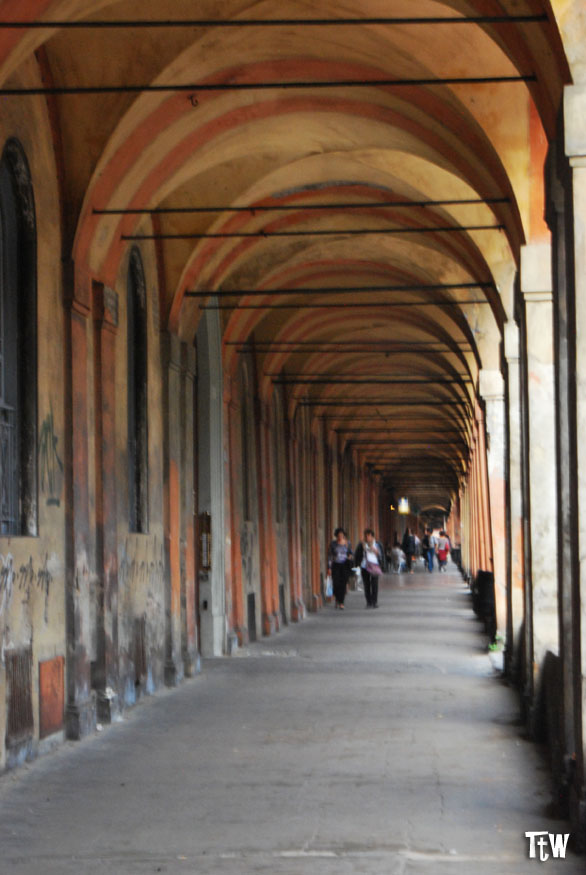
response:
<path id="1" fill-rule="evenodd" d="M 0 159 L 0 534 L 37 534 L 37 242 L 22 147 Z"/>

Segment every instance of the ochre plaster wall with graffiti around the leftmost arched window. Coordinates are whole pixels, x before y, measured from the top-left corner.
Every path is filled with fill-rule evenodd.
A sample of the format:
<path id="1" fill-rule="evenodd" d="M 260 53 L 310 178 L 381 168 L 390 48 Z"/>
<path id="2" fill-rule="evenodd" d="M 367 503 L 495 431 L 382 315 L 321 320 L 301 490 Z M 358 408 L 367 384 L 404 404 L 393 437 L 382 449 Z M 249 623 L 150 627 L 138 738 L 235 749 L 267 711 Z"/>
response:
<path id="1" fill-rule="evenodd" d="M 16 79 L 15 79 L 16 81 Z M 37 66 L 20 68 L 18 83 L 40 85 Z M 62 294 L 60 205 L 50 120 L 40 98 L 27 112 L 17 101 L 4 100 L 0 115 L 0 148 L 17 139 L 26 155 L 35 200 L 37 230 L 38 332 L 38 536 L 0 538 L 0 768 L 38 749 L 40 724 L 39 663 L 55 660 L 47 697 L 59 704 L 64 688 L 65 654 L 65 507 L 64 507 L 64 311 Z M 50 478 L 50 479 L 49 479 Z M 32 648 L 33 737 L 8 755 L 6 734 L 6 654 Z M 53 692 L 51 692 L 53 691 Z M 57 714 L 63 714 L 63 707 Z M 59 731 L 54 720 L 51 730 Z"/>

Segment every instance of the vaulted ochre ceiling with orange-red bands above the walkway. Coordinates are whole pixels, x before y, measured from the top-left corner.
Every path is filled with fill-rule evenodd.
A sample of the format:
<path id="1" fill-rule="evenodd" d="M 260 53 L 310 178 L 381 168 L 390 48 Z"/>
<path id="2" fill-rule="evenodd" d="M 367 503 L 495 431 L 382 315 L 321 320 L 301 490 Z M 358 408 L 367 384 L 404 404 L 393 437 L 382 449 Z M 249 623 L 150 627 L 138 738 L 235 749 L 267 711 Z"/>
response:
<path id="1" fill-rule="evenodd" d="M 567 5 L 554 7 L 566 16 Z M 218 7 L 3 0 L 0 20 L 317 14 L 296 0 Z M 520 246 L 543 212 L 529 162 L 555 129 L 568 67 L 541 0 L 319 4 L 320 18 L 542 13 L 477 25 L 0 28 L 0 81 L 25 81 L 21 65 L 42 47 L 58 88 L 255 85 L 52 98 L 76 265 L 116 285 L 128 247 L 156 245 L 171 330 L 191 340 L 202 308 L 220 308 L 228 378 L 254 356 L 265 397 L 319 421 L 389 489 L 445 511 L 467 467 L 480 370 L 500 368 Z M 478 76 L 535 81 L 335 84 Z M 265 87 L 311 80 L 330 86 Z"/>

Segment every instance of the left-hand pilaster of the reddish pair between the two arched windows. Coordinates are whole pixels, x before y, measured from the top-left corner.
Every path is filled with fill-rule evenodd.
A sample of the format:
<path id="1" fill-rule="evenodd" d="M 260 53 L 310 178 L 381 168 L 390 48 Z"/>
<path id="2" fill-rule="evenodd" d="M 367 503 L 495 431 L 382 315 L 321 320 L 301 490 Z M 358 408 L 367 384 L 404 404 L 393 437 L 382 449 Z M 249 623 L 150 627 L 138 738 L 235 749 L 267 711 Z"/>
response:
<path id="1" fill-rule="evenodd" d="M 88 321 L 91 282 L 64 266 L 66 318 L 66 634 L 67 737 L 80 739 L 96 726 L 96 702 L 91 689 L 91 537 L 88 451 Z"/>

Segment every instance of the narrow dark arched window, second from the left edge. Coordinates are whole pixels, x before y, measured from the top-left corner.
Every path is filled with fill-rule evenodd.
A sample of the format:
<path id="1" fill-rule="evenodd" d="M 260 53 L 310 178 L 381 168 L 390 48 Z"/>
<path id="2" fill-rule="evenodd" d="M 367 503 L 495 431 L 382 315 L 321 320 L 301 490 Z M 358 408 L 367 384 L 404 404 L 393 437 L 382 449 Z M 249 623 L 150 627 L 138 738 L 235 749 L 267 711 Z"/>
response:
<path id="1" fill-rule="evenodd" d="M 131 532 L 148 531 L 148 355 L 146 283 L 138 249 L 128 263 L 128 496 Z"/>

